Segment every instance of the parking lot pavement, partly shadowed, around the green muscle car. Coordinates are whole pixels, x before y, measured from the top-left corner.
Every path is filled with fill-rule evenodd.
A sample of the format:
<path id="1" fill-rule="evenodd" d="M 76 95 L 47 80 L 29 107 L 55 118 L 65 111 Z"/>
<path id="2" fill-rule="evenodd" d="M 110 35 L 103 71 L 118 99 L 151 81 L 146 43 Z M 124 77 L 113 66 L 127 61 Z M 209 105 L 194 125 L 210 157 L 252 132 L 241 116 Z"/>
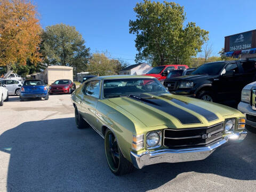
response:
<path id="1" fill-rule="evenodd" d="M 0 107 L 0 191 L 256 191 L 256 134 L 203 161 L 150 165 L 117 177 L 103 139 L 78 130 L 70 95 Z"/>

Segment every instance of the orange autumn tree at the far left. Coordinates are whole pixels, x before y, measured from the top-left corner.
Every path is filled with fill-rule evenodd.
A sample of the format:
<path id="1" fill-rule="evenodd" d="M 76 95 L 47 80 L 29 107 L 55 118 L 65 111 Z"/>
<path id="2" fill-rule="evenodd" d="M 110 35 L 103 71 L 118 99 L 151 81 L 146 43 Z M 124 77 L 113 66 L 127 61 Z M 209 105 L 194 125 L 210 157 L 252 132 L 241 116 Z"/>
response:
<path id="1" fill-rule="evenodd" d="M 0 0 L 0 66 L 7 71 L 15 63 L 36 65 L 41 26 L 35 5 L 26 0 Z"/>

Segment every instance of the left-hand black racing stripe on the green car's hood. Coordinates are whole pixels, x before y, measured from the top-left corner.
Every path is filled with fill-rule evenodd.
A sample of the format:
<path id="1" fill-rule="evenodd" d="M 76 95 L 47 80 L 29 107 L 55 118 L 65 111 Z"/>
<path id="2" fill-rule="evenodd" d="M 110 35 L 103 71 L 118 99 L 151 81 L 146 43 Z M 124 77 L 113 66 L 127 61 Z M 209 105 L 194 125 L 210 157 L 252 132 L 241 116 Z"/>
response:
<path id="1" fill-rule="evenodd" d="M 150 97 L 149 95 L 143 95 L 146 97 L 137 97 L 135 95 L 130 96 L 131 99 L 139 100 L 143 102 L 146 105 L 149 105 L 151 107 L 154 107 L 156 109 L 162 110 L 165 113 L 172 115 L 173 117 L 177 118 L 182 124 L 196 124 L 196 123 L 202 123 L 196 116 L 193 114 L 188 113 L 188 111 L 185 111 L 183 109 L 180 109 L 178 107 L 175 107 L 171 105 L 171 103 L 166 102 L 162 99 L 158 99 L 155 97 Z"/>

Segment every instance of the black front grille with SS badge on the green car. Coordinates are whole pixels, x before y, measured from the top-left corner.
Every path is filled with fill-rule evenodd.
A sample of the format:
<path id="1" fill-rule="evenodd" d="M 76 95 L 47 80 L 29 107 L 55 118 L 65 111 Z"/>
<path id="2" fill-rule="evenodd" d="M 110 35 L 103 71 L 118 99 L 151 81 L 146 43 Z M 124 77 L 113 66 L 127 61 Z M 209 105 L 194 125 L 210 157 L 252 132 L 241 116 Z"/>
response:
<path id="1" fill-rule="evenodd" d="M 204 147 L 222 139 L 223 123 L 194 129 L 165 129 L 164 146 L 170 148 Z"/>

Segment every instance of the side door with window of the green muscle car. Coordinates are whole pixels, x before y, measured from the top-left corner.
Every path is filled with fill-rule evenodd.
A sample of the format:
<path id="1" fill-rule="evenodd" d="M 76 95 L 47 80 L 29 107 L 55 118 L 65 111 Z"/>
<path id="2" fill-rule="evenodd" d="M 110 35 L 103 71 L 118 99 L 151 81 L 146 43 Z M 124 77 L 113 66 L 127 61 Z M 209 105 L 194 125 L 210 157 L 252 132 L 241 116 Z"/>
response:
<path id="1" fill-rule="evenodd" d="M 100 82 L 100 80 L 93 80 L 83 86 L 83 99 L 80 111 L 84 119 L 93 127 L 97 124 L 95 114 L 100 98 Z"/>

